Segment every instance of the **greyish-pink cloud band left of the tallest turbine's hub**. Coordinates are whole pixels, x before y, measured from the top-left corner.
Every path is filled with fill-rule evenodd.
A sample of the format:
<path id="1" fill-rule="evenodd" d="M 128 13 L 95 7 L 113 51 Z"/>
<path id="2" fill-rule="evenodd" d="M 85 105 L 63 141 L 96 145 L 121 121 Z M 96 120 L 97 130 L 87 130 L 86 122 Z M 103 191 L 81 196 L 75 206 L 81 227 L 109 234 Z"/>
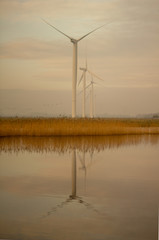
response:
<path id="1" fill-rule="evenodd" d="M 52 59 L 70 57 L 71 49 L 60 41 L 20 39 L 0 45 L 1 59 Z"/>

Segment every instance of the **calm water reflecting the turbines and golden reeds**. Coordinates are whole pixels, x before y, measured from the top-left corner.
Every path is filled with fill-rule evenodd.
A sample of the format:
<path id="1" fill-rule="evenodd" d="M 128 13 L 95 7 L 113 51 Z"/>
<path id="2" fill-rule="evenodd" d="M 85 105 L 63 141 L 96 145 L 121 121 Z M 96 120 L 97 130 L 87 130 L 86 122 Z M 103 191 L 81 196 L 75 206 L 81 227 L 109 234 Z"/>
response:
<path id="1" fill-rule="evenodd" d="M 0 139 L 0 239 L 157 240 L 159 136 Z"/>

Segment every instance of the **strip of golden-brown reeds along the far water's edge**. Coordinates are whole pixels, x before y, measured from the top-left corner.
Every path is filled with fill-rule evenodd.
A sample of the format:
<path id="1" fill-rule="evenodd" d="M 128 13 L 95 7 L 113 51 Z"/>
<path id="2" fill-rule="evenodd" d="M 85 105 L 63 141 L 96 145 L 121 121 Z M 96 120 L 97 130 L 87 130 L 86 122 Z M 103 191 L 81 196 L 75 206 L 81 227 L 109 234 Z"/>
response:
<path id="1" fill-rule="evenodd" d="M 159 119 L 0 118 L 0 136 L 159 134 Z"/>

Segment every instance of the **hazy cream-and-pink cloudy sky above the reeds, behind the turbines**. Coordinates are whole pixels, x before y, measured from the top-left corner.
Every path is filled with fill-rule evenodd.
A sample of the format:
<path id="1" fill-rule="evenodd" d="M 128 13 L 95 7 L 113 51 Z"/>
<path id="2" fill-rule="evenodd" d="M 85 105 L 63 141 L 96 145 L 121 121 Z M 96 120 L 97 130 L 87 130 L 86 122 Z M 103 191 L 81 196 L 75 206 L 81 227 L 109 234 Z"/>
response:
<path id="1" fill-rule="evenodd" d="M 78 80 L 86 55 L 104 80 L 96 116 L 159 112 L 158 12 L 158 0 L 0 0 L 0 115 L 71 115 L 72 43 L 42 19 L 74 38 L 106 24 L 78 44 Z"/>

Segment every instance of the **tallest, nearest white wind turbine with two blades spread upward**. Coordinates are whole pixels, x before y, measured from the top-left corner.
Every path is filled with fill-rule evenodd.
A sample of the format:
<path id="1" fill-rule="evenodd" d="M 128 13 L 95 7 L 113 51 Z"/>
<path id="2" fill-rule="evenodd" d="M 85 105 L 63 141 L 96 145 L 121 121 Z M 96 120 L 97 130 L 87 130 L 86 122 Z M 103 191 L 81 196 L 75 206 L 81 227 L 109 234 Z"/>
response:
<path id="1" fill-rule="evenodd" d="M 49 26 L 51 26 L 52 28 L 54 28 L 56 31 L 58 31 L 59 33 L 63 34 L 65 37 L 69 38 L 70 41 L 73 43 L 73 69 L 72 69 L 72 118 L 76 117 L 76 84 L 77 84 L 77 45 L 78 42 L 81 41 L 83 38 L 87 37 L 88 35 L 90 35 L 91 33 L 95 32 L 96 30 L 98 30 L 99 28 L 105 26 L 106 24 L 95 28 L 94 30 L 88 32 L 87 34 L 83 35 L 81 38 L 79 39 L 75 39 L 72 38 L 70 36 L 68 36 L 67 34 L 65 34 L 64 32 L 62 32 L 61 30 L 59 30 L 58 28 L 54 27 L 53 25 L 51 25 L 50 23 L 48 23 L 47 21 L 45 21 L 44 19 L 42 19 L 46 24 L 48 24 Z"/>

